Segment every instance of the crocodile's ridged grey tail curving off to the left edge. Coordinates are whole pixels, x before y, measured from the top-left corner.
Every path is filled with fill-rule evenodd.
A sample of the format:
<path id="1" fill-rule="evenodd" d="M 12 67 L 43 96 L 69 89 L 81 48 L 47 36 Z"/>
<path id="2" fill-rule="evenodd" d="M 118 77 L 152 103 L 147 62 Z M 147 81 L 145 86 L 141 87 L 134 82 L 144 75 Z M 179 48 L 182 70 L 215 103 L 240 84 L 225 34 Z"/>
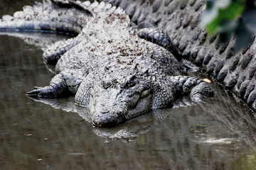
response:
<path id="1" fill-rule="evenodd" d="M 78 34 L 93 13 L 75 1 L 44 0 L 0 19 L 1 32 Z"/>

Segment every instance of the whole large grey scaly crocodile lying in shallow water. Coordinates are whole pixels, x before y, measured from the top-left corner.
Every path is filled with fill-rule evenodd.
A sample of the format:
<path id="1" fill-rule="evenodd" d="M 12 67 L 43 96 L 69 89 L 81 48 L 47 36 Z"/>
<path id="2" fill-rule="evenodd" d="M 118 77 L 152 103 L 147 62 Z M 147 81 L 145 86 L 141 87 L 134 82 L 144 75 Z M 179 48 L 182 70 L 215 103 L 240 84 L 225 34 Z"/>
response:
<path id="1" fill-rule="evenodd" d="M 171 106 L 182 95 L 196 103 L 213 96 L 206 80 L 185 74 L 196 67 L 178 57 L 166 33 L 139 28 L 122 8 L 104 2 L 35 2 L 3 16 L 0 31 L 73 35 L 43 49 L 43 60 L 55 65 L 55 76 L 48 86 L 35 86 L 26 95 L 73 93 L 75 104 L 87 108 L 95 126 L 118 125 L 152 108 Z"/>

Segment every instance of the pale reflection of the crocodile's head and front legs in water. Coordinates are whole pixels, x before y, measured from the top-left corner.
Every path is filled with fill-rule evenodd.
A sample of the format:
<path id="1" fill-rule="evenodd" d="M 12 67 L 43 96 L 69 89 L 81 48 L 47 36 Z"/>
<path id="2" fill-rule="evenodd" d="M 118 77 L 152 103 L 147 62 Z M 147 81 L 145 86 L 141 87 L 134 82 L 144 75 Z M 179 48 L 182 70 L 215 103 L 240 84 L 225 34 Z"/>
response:
<path id="1" fill-rule="evenodd" d="M 53 108 L 61 109 L 68 113 L 78 113 L 82 119 L 88 123 L 92 123 L 87 109 L 75 106 L 73 97 L 62 97 L 62 98 L 31 98 L 34 101 L 45 103 Z M 188 96 L 183 96 L 182 99 L 174 102 L 174 107 L 184 107 L 198 105 L 193 103 Z M 110 140 L 122 140 L 123 142 L 131 142 L 135 140 L 139 135 L 149 132 L 151 128 L 158 125 L 166 117 L 169 116 L 173 107 L 153 109 L 149 113 L 139 115 L 135 118 L 127 120 L 125 123 L 120 124 L 112 128 L 97 128 L 94 127 L 92 130 L 96 135 L 105 138 L 106 142 Z M 176 113 L 174 113 L 176 114 Z"/>

